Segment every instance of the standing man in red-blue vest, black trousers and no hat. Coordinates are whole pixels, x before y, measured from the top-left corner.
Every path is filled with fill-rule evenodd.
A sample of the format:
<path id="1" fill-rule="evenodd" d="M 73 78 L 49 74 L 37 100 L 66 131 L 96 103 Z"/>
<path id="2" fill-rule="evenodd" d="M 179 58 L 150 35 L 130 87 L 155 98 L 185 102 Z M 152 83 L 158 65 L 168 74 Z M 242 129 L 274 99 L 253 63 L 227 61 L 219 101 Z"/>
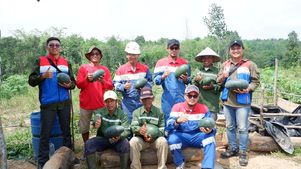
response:
<path id="1" fill-rule="evenodd" d="M 34 61 L 28 78 L 30 86 L 39 86 L 39 100 L 41 103 L 38 169 L 43 168 L 46 161 L 49 160 L 49 138 L 56 116 L 59 117 L 59 124 L 63 133 L 63 146 L 72 149 L 70 133 L 71 99 L 68 89 L 75 88 L 75 79 L 71 63 L 60 56 L 61 41 L 58 38 L 48 38 L 46 50 L 49 52 L 48 56 L 39 57 Z M 57 69 L 70 76 L 68 84 L 57 82 L 56 77 L 59 73 Z M 75 158 L 74 164 L 78 163 L 79 159 Z"/>

